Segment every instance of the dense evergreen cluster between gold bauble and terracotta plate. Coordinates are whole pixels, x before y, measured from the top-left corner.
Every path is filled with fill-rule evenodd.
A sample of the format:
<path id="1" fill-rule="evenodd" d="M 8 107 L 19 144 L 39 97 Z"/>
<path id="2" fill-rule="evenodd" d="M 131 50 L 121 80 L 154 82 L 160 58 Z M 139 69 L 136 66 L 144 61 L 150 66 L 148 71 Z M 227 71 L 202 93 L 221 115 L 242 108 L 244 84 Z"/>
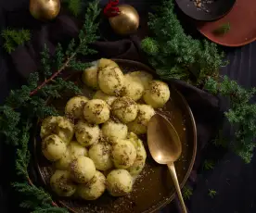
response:
<path id="1" fill-rule="evenodd" d="M 186 35 L 173 12 L 173 0 L 160 5 L 154 14 L 149 14 L 148 27 L 154 35 L 141 44 L 160 78 L 198 85 L 206 76 L 218 75 L 224 55 L 218 52 L 217 45 Z"/>

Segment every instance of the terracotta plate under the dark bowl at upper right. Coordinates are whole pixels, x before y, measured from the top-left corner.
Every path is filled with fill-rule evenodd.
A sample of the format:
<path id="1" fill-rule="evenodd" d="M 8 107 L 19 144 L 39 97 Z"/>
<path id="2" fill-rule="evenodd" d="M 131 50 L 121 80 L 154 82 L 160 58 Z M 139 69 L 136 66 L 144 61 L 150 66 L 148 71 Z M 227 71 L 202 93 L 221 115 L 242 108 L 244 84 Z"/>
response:
<path id="1" fill-rule="evenodd" d="M 241 46 L 256 40 L 256 1 L 237 0 L 232 10 L 222 19 L 198 22 L 197 27 L 212 42 L 225 46 Z M 215 33 L 216 29 L 229 24 L 230 30 Z"/>

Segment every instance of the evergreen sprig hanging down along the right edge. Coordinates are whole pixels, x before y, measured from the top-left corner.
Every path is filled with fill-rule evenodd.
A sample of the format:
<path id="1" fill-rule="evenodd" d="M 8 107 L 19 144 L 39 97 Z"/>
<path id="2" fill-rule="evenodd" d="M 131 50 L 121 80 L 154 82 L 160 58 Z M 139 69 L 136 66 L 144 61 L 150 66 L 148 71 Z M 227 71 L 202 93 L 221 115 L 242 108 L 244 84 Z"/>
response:
<path id="1" fill-rule="evenodd" d="M 221 94 L 230 100 L 230 109 L 225 117 L 235 130 L 235 139 L 231 147 L 246 163 L 250 163 L 253 148 L 256 146 L 256 105 L 250 99 L 256 94 L 256 88 L 246 90 L 236 81 L 231 81 L 224 76 L 223 81 L 208 78 L 205 89 L 212 94 Z M 226 144 L 216 141 L 219 144 Z"/>

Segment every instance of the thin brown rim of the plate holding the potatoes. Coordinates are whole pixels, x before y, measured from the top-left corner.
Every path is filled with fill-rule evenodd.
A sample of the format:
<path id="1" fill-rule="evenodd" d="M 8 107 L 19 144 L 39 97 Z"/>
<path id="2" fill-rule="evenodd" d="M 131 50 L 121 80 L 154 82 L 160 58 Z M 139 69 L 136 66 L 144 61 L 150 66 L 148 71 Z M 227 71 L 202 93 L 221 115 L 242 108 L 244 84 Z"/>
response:
<path id="1" fill-rule="evenodd" d="M 137 61 L 133 61 L 133 60 L 126 60 L 126 59 L 115 59 L 115 58 L 110 58 L 112 59 L 113 61 L 117 62 L 117 63 L 122 63 L 122 64 L 129 64 L 129 65 L 133 65 L 134 67 L 138 67 L 140 69 L 143 69 L 147 72 L 150 72 L 150 73 L 155 73 L 154 69 L 151 69 L 149 68 L 147 65 L 143 64 L 143 63 L 140 63 L 140 62 L 137 62 Z M 70 75 L 71 76 L 71 75 Z M 70 77 L 68 77 L 66 80 L 68 80 Z M 193 166 L 194 166 L 194 163 L 195 163 L 195 159 L 196 159 L 196 154 L 197 154 L 197 127 L 196 127 L 196 122 L 195 122 L 195 119 L 194 119 L 194 116 L 193 116 L 193 113 L 190 109 L 190 107 L 188 106 L 187 102 L 186 102 L 186 99 L 185 97 L 176 89 L 172 86 L 173 90 L 175 90 L 175 92 L 181 97 L 181 100 L 185 103 L 186 105 L 186 109 L 187 109 L 187 112 L 190 116 L 190 121 L 192 123 L 192 132 L 194 132 L 194 139 L 193 139 L 193 155 L 192 155 L 192 158 L 191 158 L 191 161 L 190 161 L 190 164 L 189 164 L 189 167 L 186 171 L 186 176 L 183 180 L 183 182 L 180 183 L 180 186 L 181 188 L 185 185 L 192 169 L 193 169 Z M 34 137 L 34 140 L 33 140 L 33 149 L 34 149 L 34 154 L 37 153 L 37 138 Z M 44 175 L 42 173 L 42 170 L 40 169 L 40 166 L 39 166 L 39 162 L 38 162 L 38 157 L 36 157 L 36 155 L 33 155 L 33 159 L 34 159 L 34 164 L 36 165 L 36 172 L 39 173 L 39 176 L 40 176 L 40 181 L 39 182 L 42 182 L 44 183 L 44 187 L 46 188 L 46 190 L 48 189 L 48 186 L 45 182 L 45 179 L 42 178 Z M 146 211 L 147 213 L 154 213 L 156 212 L 157 210 L 159 210 L 160 208 L 162 207 L 165 207 L 166 205 L 168 205 L 170 202 L 173 201 L 173 198 L 175 196 L 175 193 L 173 193 L 172 196 L 169 197 L 169 199 L 165 199 L 165 201 L 161 202 L 160 206 L 157 206 L 157 207 L 154 207 L 153 209 L 149 209 L 148 211 Z M 70 210 L 70 212 L 73 212 L 73 213 L 77 213 L 78 211 L 75 211 L 74 209 L 72 209 L 71 207 L 67 206 L 65 203 L 63 203 L 62 201 L 59 201 L 57 200 L 56 202 L 58 202 L 58 204 L 61 206 L 61 207 L 66 207 L 67 209 Z"/>

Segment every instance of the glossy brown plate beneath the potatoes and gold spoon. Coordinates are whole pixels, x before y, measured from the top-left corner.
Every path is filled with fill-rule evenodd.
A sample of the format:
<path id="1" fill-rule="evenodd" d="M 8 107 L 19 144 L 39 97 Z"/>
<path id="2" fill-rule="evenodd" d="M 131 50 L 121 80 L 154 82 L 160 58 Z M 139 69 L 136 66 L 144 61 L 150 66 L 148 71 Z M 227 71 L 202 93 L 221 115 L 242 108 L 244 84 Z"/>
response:
<path id="1" fill-rule="evenodd" d="M 115 61 L 124 72 L 135 70 L 153 72 L 152 69 L 138 62 L 122 59 Z M 79 81 L 79 79 L 80 75 L 70 77 L 70 80 L 74 81 Z M 175 163 L 175 167 L 179 182 L 181 186 L 184 186 L 197 153 L 197 131 L 195 120 L 186 100 L 172 85 L 170 85 L 170 89 L 171 98 L 162 113 L 172 121 L 183 145 L 182 156 Z M 84 88 L 83 92 L 85 95 L 91 94 L 91 91 L 88 91 L 87 88 Z M 63 110 L 69 98 L 70 95 L 65 95 L 63 99 L 57 102 L 57 107 L 62 106 Z M 38 126 L 34 140 L 35 163 L 43 184 L 45 184 L 45 188 L 50 191 L 48 183 L 53 169 L 51 168 L 51 164 L 42 156 L 39 130 L 40 128 Z M 146 137 L 142 139 L 147 149 L 147 139 Z M 169 170 L 166 166 L 157 164 L 150 157 L 147 149 L 146 167 L 140 177 L 134 182 L 134 189 L 131 194 L 122 197 L 113 197 L 106 192 L 99 199 L 91 202 L 79 200 L 75 197 L 67 199 L 56 196 L 55 199 L 60 206 L 67 207 L 71 212 L 77 213 L 149 213 L 155 212 L 171 202 L 174 192 L 173 181 Z"/>

